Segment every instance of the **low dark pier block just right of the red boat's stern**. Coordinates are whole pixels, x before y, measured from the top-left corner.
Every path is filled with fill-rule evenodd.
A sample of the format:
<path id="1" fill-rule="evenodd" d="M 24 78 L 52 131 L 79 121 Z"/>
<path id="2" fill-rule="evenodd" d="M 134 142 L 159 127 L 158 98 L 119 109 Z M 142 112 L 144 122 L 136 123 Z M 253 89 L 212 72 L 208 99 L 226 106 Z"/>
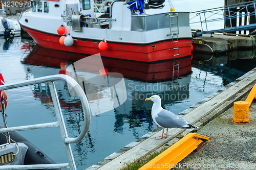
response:
<path id="1" fill-rule="evenodd" d="M 255 38 L 253 36 L 234 36 L 231 34 L 203 34 L 201 37 L 193 38 L 193 52 L 222 54 L 240 49 L 251 50 L 254 49 Z"/>

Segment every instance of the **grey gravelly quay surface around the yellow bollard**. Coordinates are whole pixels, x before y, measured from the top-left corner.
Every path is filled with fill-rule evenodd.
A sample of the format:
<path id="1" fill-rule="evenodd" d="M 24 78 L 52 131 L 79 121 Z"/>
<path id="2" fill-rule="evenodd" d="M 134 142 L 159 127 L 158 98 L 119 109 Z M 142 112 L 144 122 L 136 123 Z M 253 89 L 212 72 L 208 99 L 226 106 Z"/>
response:
<path id="1" fill-rule="evenodd" d="M 250 105 L 246 124 L 233 123 L 231 107 L 197 132 L 211 137 L 211 141 L 204 142 L 201 150 L 192 152 L 174 169 L 255 169 L 255 122 L 255 102 Z"/>

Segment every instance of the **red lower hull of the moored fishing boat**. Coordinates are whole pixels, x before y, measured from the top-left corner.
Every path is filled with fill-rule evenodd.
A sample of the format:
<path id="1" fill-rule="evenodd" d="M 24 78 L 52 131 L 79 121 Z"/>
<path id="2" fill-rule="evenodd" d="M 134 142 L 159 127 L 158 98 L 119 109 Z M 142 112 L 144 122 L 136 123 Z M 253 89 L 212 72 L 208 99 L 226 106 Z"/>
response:
<path id="1" fill-rule="evenodd" d="M 108 49 L 101 51 L 98 48 L 99 41 L 74 38 L 74 44 L 70 47 L 67 47 L 59 43 L 60 36 L 42 33 L 28 29 L 26 27 L 23 27 L 23 29 L 28 32 L 28 34 L 36 41 L 37 44 L 46 48 L 52 48 L 54 50 L 88 55 L 100 53 L 102 57 L 139 62 L 163 62 L 174 59 L 172 40 L 166 40 L 146 45 L 108 42 Z M 174 47 L 177 47 L 177 43 L 174 43 Z M 178 50 L 175 50 L 175 54 L 178 54 Z M 190 55 L 191 39 L 179 39 L 179 56 L 176 55 L 175 59 L 178 57 L 190 57 Z"/>

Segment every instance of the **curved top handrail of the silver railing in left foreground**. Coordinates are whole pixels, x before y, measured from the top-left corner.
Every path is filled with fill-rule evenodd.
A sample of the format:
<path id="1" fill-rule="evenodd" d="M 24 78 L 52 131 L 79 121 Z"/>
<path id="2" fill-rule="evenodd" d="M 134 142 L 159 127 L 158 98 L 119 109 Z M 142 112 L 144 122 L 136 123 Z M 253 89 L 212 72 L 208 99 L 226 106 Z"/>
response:
<path id="1" fill-rule="evenodd" d="M 70 76 L 67 76 L 67 75 L 46 76 L 46 77 L 35 78 L 32 80 L 26 80 L 26 81 L 17 82 L 17 83 L 1 85 L 0 91 L 17 88 L 17 87 L 29 86 L 29 85 L 33 85 L 33 84 L 53 82 L 53 81 L 57 81 L 57 80 L 65 80 L 68 84 L 70 84 L 72 86 L 72 88 L 75 90 L 75 92 L 78 94 L 78 96 L 80 97 L 80 101 L 82 103 L 82 108 L 83 108 L 83 112 L 84 112 L 84 123 L 83 123 L 82 131 L 76 138 L 66 137 L 63 141 L 66 144 L 77 143 L 77 142 L 81 141 L 82 139 L 84 139 L 84 137 L 86 137 L 86 135 L 89 131 L 90 124 L 91 124 L 91 112 L 90 112 L 90 106 L 89 106 L 86 94 L 82 90 L 81 86 L 73 78 L 71 78 Z"/>

